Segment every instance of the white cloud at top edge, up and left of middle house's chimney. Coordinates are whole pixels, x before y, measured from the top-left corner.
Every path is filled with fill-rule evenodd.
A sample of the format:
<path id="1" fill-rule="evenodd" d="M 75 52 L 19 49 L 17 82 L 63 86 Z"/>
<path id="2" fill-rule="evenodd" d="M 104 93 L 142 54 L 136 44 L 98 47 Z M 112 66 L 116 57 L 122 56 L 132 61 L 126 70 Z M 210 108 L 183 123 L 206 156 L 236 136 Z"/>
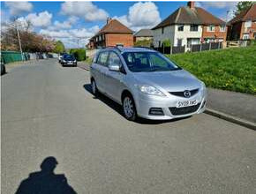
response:
<path id="1" fill-rule="evenodd" d="M 106 20 L 109 14 L 92 2 L 65 2 L 61 13 L 69 16 L 83 17 L 86 21 Z"/>

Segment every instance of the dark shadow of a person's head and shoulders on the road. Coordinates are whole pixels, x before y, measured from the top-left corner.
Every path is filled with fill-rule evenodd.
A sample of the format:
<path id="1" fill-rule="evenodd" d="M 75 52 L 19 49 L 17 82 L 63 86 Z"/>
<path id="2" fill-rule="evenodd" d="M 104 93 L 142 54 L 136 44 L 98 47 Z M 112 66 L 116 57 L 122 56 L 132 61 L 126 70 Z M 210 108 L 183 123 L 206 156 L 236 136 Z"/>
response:
<path id="1" fill-rule="evenodd" d="M 41 171 L 34 172 L 23 180 L 16 194 L 76 194 L 64 175 L 56 175 L 57 161 L 49 156 L 41 162 Z"/>

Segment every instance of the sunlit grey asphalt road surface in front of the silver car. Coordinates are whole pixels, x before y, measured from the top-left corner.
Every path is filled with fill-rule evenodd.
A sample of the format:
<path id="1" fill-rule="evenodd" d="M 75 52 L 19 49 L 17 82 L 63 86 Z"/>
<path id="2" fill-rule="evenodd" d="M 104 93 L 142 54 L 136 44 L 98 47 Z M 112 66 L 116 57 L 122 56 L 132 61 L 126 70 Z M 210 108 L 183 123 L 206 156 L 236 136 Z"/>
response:
<path id="1" fill-rule="evenodd" d="M 89 72 L 41 60 L 2 80 L 2 193 L 56 157 L 77 193 L 256 193 L 256 131 L 201 114 L 126 121 Z"/>

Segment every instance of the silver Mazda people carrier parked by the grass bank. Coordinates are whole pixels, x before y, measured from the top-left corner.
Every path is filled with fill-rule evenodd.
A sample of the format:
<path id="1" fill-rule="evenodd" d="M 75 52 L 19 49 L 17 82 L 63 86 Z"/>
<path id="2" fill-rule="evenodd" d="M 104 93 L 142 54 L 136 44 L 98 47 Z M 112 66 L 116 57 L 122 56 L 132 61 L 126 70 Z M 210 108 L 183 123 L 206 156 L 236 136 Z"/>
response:
<path id="1" fill-rule="evenodd" d="M 94 95 L 121 104 L 128 120 L 168 120 L 200 114 L 205 84 L 159 52 L 147 48 L 104 48 L 91 65 Z"/>

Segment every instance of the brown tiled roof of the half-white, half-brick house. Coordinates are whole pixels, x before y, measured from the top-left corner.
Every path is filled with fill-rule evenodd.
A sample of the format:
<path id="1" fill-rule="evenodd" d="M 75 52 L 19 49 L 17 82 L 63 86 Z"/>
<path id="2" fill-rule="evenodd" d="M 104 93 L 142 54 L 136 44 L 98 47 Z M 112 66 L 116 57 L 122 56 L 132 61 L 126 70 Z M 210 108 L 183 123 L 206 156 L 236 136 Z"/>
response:
<path id="1" fill-rule="evenodd" d="M 154 26 L 153 30 L 174 24 L 224 25 L 225 22 L 200 7 L 184 6 L 174 11 L 168 18 L 163 19 L 159 25 Z"/>

